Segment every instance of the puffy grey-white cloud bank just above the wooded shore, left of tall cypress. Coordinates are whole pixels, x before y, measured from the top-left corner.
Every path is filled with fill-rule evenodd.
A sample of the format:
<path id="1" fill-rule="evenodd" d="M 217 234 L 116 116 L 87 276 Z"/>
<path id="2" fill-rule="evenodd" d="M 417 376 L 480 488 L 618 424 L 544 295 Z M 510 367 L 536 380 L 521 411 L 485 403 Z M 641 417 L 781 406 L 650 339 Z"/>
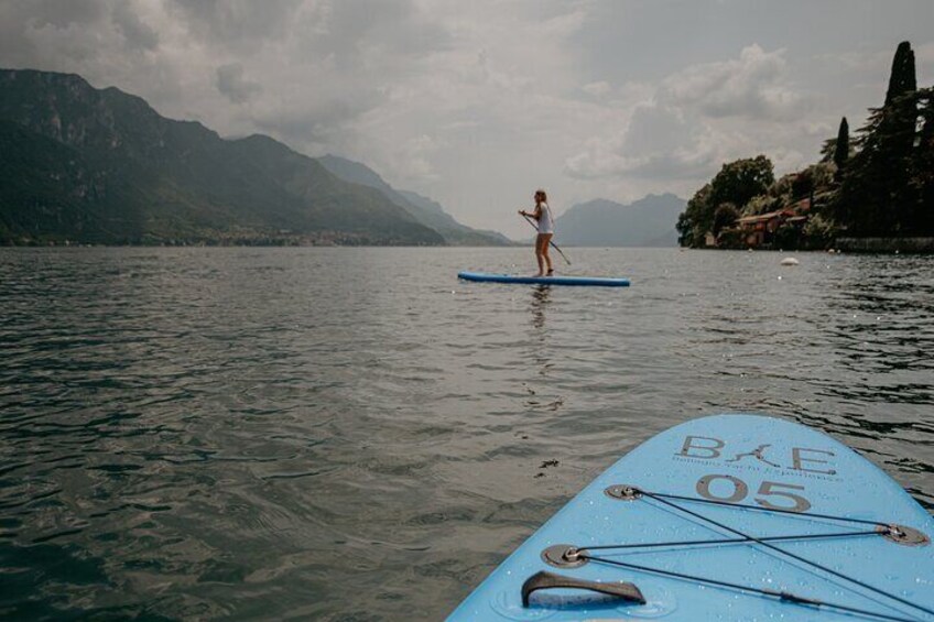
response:
<path id="1" fill-rule="evenodd" d="M 742 48 L 736 58 L 685 67 L 658 83 L 621 133 L 591 139 L 568 157 L 565 173 L 580 179 L 699 183 L 726 160 L 764 151 L 756 144 L 760 141 L 783 165 L 797 165 L 803 155 L 790 149 L 778 128 L 786 133 L 789 122 L 806 111 L 807 98 L 791 85 L 788 70 L 783 51 L 759 45 Z M 811 129 L 795 131 L 804 133 Z"/>

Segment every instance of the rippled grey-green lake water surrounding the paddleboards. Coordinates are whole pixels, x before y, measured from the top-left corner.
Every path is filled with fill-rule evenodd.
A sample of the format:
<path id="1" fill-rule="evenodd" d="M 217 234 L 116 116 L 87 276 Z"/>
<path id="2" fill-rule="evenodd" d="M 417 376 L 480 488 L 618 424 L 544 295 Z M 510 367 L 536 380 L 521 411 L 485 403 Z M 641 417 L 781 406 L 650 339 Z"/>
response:
<path id="1" fill-rule="evenodd" d="M 934 510 L 934 258 L 565 252 L 632 287 L 456 279 L 531 249 L 0 249 L 0 618 L 441 619 L 718 412 Z"/>

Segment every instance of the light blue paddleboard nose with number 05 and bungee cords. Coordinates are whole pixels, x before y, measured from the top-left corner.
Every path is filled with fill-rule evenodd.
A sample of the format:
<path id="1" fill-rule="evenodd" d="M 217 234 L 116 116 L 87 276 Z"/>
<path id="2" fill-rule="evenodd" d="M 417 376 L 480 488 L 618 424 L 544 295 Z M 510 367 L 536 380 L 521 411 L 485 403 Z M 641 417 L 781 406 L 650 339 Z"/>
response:
<path id="1" fill-rule="evenodd" d="M 829 436 L 703 417 L 607 469 L 448 620 L 934 621 L 932 534 Z"/>

